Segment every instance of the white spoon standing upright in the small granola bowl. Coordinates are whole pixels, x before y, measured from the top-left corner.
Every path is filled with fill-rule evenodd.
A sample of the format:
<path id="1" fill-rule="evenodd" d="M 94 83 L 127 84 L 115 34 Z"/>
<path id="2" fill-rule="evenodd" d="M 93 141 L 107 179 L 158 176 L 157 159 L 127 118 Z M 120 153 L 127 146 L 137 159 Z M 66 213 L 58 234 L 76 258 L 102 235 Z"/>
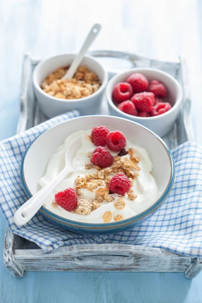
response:
<path id="1" fill-rule="evenodd" d="M 92 44 L 92 42 L 94 41 L 94 39 L 96 38 L 96 36 L 98 35 L 99 31 L 101 29 L 101 25 L 99 23 L 95 23 L 93 25 L 93 27 L 91 28 L 91 30 L 89 31 L 85 41 L 83 42 L 83 45 L 80 49 L 80 52 L 75 56 L 74 61 L 72 62 L 70 68 L 68 69 L 67 73 L 65 74 L 65 76 L 63 77 L 63 79 L 70 79 L 74 76 L 77 67 L 79 66 L 79 64 L 81 63 L 83 57 L 85 56 L 85 54 L 88 51 L 88 48 L 90 47 L 90 45 Z"/>

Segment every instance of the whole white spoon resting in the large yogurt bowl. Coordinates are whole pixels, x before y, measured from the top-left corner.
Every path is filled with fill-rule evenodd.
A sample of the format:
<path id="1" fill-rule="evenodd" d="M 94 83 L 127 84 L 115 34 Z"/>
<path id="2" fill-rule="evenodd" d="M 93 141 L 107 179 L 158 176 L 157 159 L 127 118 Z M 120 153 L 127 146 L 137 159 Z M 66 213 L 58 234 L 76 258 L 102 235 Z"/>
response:
<path id="1" fill-rule="evenodd" d="M 44 186 L 40 191 L 27 200 L 14 214 L 13 222 L 18 226 L 25 225 L 38 212 L 44 201 L 54 191 L 58 184 L 67 175 L 74 171 L 72 167 L 73 158 L 81 145 L 81 138 L 74 140 L 65 152 L 65 168 L 50 183 Z"/>

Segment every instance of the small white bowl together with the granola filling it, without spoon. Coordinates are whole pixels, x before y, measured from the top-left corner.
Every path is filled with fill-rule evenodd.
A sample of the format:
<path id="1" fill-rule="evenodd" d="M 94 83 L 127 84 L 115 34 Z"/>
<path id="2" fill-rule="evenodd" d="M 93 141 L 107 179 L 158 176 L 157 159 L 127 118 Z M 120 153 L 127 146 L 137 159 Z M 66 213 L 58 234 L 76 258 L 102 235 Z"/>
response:
<path id="1" fill-rule="evenodd" d="M 82 115 L 95 114 L 108 82 L 108 73 L 92 56 L 85 55 L 74 77 L 62 79 L 75 54 L 41 61 L 33 72 L 33 86 L 39 106 L 48 117 L 77 109 Z"/>

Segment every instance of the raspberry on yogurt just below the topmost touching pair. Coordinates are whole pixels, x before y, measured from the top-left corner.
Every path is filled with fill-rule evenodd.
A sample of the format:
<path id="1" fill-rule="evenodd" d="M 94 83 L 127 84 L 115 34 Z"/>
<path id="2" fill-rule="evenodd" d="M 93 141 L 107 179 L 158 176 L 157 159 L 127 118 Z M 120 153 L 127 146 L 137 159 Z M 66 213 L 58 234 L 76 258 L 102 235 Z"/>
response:
<path id="1" fill-rule="evenodd" d="M 106 168 L 112 165 L 113 157 L 105 147 L 98 146 L 93 151 L 90 161 L 94 165 L 97 165 L 101 168 Z"/>

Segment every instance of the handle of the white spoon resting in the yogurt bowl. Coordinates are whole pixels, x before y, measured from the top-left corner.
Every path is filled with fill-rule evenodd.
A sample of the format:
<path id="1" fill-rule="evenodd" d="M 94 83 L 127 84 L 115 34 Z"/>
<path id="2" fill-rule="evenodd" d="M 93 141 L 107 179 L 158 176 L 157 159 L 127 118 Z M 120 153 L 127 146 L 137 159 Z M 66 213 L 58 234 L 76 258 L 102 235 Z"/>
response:
<path id="1" fill-rule="evenodd" d="M 70 166 L 66 166 L 55 179 L 39 190 L 15 212 L 13 222 L 18 226 L 22 226 L 31 220 L 43 205 L 44 200 L 53 192 L 54 188 L 73 171 Z"/>

